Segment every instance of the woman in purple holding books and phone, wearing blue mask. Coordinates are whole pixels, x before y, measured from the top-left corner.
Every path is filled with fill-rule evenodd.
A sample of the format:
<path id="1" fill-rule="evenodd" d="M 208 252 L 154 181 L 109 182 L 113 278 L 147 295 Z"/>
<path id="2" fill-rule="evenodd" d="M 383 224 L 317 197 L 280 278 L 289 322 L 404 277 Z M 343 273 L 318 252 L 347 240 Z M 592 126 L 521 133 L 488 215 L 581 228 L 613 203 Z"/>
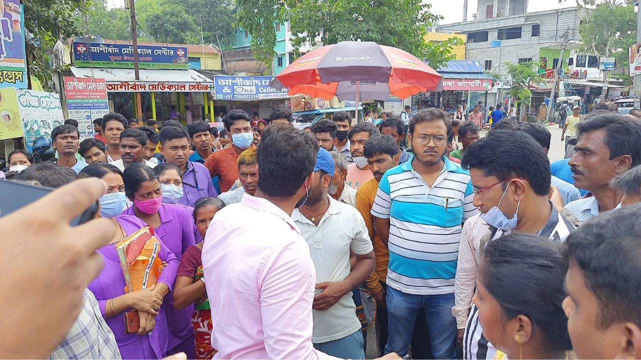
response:
<path id="1" fill-rule="evenodd" d="M 115 243 L 147 224 L 131 215 L 115 216 L 124 208 L 124 192 L 122 192 L 124 183 L 118 168 L 106 163 L 94 163 L 82 172 L 87 176 L 99 177 L 107 183 L 107 193 L 100 199 L 101 217 L 111 218 L 113 225 L 117 227 L 115 232 L 117 235 L 112 243 L 98 250 L 104 259 L 103 271 L 89 284 L 88 288 L 96 296 L 101 314 L 115 335 L 122 359 L 162 359 L 167 355 L 168 331 L 165 308 L 169 304 L 164 302 L 161 304 L 162 295 L 154 297 L 153 291 L 150 290 L 125 293 L 126 282 L 115 249 Z M 167 291 L 167 288 L 171 290 L 174 285 L 179 262 L 162 240 L 160 242 L 159 256 L 167 266 L 163 268 L 156 286 L 158 289 L 165 288 Z M 154 290 L 156 290 L 155 287 Z M 124 313 L 132 308 L 137 308 L 139 313 L 146 311 L 155 315 L 155 325 L 151 332 L 142 335 L 126 333 Z"/>

